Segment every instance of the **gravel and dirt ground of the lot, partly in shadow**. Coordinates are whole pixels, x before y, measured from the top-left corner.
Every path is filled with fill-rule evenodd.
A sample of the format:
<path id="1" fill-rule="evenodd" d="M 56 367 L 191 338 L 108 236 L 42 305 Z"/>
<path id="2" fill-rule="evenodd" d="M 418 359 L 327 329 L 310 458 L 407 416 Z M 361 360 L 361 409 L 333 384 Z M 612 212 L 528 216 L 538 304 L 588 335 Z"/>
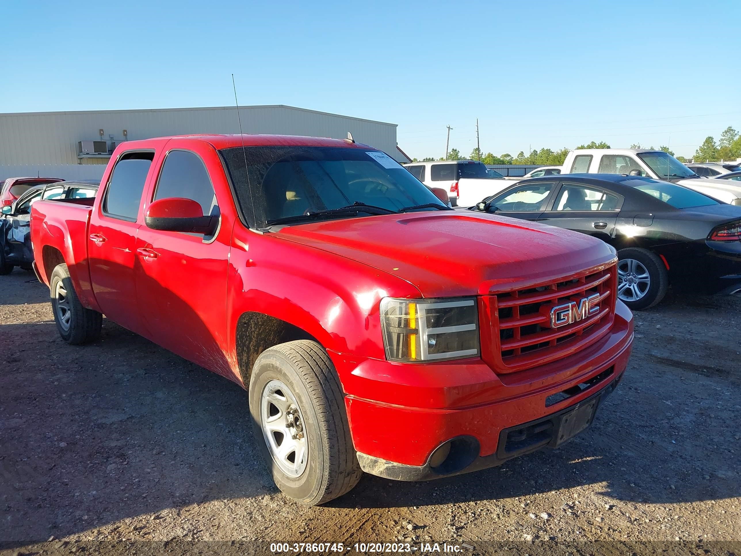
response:
<path id="1" fill-rule="evenodd" d="M 561 449 L 430 483 L 365 476 L 305 508 L 258 459 L 240 388 L 112 322 L 95 345 L 68 346 L 47 296 L 32 274 L 0 277 L 3 555 L 405 538 L 741 555 L 718 543 L 741 540 L 741 299 L 669 297 L 638 314 L 625 380 Z"/>

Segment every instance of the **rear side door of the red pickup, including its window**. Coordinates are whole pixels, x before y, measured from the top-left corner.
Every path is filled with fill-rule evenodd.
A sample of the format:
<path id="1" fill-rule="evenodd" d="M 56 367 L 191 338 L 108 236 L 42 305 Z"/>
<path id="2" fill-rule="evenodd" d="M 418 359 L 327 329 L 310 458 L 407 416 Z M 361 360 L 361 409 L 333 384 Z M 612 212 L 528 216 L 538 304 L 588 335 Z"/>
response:
<path id="1" fill-rule="evenodd" d="M 142 193 L 152 169 L 154 150 L 124 151 L 90 214 L 87 255 L 90 280 L 103 314 L 139 334 L 144 333 L 136 304 L 134 268 L 136 234 L 142 216 Z"/>

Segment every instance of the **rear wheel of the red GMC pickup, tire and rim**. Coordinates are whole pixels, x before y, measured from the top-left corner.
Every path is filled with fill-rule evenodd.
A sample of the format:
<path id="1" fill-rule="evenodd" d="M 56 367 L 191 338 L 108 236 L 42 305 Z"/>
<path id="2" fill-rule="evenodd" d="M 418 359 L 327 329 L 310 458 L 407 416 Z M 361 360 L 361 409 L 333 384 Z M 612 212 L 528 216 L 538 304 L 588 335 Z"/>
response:
<path id="1" fill-rule="evenodd" d="M 57 288 L 61 285 L 64 289 L 64 302 L 60 302 L 57 296 Z M 49 280 L 51 293 L 51 308 L 54 313 L 54 322 L 56 329 L 62 340 L 68 344 L 79 345 L 87 342 L 93 342 L 100 337 L 101 327 L 103 325 L 103 315 L 98 311 L 87 309 L 82 306 L 77 292 L 70 279 L 70 271 L 67 265 L 62 263 L 54 268 Z M 64 306 L 65 310 L 61 310 Z M 68 318 L 62 317 L 69 313 Z"/>

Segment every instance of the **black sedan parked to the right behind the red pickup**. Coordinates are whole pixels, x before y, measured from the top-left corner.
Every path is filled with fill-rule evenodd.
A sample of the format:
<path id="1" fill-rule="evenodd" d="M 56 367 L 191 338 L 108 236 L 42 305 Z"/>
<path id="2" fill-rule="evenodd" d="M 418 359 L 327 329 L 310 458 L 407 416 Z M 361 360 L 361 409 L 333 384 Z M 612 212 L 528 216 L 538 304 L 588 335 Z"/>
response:
<path id="1" fill-rule="evenodd" d="M 617 249 L 618 297 L 631 309 L 671 284 L 741 292 L 741 207 L 657 179 L 565 174 L 525 179 L 469 208 L 599 237 Z"/>

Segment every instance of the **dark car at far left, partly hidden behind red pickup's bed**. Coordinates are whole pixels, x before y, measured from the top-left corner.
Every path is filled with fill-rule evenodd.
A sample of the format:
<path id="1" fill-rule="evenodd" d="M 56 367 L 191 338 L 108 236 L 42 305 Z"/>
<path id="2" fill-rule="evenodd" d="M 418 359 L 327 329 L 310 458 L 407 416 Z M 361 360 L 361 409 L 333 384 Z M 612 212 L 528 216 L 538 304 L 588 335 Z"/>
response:
<path id="1" fill-rule="evenodd" d="M 76 199 L 87 204 L 98 192 L 99 182 L 56 182 L 36 185 L 25 191 L 0 214 L 0 275 L 13 267 L 30 269 L 33 263 L 30 218 L 31 205 L 39 199 Z M 85 200 L 89 199 L 89 200 Z"/>

